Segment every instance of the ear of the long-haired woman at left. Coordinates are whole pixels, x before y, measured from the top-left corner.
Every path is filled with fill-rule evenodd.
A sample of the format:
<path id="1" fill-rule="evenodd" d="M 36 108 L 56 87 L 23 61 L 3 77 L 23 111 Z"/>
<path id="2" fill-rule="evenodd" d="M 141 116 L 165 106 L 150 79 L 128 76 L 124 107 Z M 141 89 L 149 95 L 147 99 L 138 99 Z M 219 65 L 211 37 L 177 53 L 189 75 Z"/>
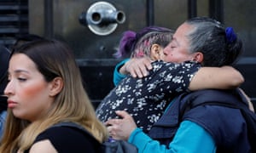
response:
<path id="1" fill-rule="evenodd" d="M 50 89 L 49 89 L 49 95 L 55 96 L 56 94 L 59 94 L 61 92 L 61 89 L 63 88 L 63 80 L 61 77 L 55 77 L 53 81 L 50 82 Z"/>

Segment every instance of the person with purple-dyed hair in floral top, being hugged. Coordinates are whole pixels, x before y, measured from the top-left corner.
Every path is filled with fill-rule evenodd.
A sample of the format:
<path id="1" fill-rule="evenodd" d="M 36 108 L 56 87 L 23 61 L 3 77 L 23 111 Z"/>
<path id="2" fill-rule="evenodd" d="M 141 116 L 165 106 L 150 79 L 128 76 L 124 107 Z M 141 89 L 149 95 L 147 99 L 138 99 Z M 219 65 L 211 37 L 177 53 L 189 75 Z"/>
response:
<path id="1" fill-rule="evenodd" d="M 121 41 L 122 45 L 120 46 L 126 46 L 126 50 L 127 47 L 134 46 L 133 50 L 129 49 L 131 58 L 147 57 L 152 61 L 154 68 L 149 72 L 148 77 L 141 79 L 131 76 L 125 77 L 102 99 L 96 108 L 96 115 L 102 122 L 118 117 L 115 111 L 125 110 L 133 116 L 137 127 L 148 133 L 154 122 L 164 113 L 166 106 L 178 94 L 190 89 L 228 88 L 229 82 L 232 80 L 230 77 L 236 78 L 237 71 L 234 73 L 228 69 L 216 67 L 201 68 L 201 65 L 195 61 L 171 63 L 160 60 L 164 56 L 164 48 L 172 40 L 173 32 L 166 30 L 166 28 L 157 27 L 151 27 L 150 30 L 148 27 L 144 28 L 142 31 L 146 29 L 148 32 L 144 32 L 144 35 L 137 40 L 122 39 L 124 41 Z M 206 70 L 210 73 L 207 73 Z M 222 82 L 219 83 L 220 76 L 215 75 L 216 73 L 222 75 L 224 77 L 222 80 L 225 81 L 221 80 Z M 212 74 L 214 77 L 208 79 Z M 225 74 L 228 75 L 225 76 Z M 199 77 L 201 79 L 197 79 Z M 216 82 L 213 81 L 214 78 L 217 80 Z M 196 86 L 190 86 L 190 82 Z"/>

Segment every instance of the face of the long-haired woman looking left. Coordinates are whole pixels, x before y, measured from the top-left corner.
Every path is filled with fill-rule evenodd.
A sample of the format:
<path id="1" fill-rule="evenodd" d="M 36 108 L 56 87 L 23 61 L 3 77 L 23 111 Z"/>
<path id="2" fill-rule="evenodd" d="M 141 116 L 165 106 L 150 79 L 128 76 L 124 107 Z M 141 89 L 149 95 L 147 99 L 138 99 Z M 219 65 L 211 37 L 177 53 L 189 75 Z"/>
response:
<path id="1" fill-rule="evenodd" d="M 30 122 L 49 111 L 54 98 L 49 95 L 51 83 L 44 80 L 26 54 L 14 54 L 9 61 L 9 83 L 4 90 L 8 107 L 14 115 Z"/>

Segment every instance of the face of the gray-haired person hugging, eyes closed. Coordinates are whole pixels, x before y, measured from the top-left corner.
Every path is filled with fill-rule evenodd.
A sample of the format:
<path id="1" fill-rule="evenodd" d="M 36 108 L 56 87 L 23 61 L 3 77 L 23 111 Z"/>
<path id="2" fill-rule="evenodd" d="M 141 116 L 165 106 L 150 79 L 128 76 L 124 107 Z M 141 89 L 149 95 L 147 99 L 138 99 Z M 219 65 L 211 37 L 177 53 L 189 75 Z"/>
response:
<path id="1" fill-rule="evenodd" d="M 193 54 L 189 54 L 189 39 L 187 37 L 192 30 L 192 26 L 186 23 L 177 28 L 172 41 L 164 49 L 164 61 L 181 63 L 194 58 Z"/>

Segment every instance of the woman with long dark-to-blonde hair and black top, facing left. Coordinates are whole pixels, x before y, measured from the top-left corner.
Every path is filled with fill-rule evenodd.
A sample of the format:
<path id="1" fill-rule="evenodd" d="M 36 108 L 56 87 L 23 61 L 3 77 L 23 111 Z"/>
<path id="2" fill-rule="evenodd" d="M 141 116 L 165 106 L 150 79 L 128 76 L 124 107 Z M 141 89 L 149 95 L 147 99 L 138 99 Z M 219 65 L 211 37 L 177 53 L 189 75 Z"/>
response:
<path id="1" fill-rule="evenodd" d="M 8 117 L 0 152 L 98 152 L 107 139 L 84 91 L 72 50 L 40 40 L 15 48 L 9 61 Z M 91 135 L 72 127 L 74 122 Z"/>

